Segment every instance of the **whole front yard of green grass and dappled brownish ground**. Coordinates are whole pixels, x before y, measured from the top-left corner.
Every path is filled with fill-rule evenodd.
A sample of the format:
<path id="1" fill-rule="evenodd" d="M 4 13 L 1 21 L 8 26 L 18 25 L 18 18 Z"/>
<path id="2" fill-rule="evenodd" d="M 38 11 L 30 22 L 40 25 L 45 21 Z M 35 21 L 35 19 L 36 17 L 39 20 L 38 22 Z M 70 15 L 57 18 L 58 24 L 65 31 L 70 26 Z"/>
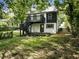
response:
<path id="1" fill-rule="evenodd" d="M 78 59 L 76 40 L 65 36 L 24 36 L 0 40 L 2 59 Z M 74 43 L 74 44 L 73 44 Z"/>

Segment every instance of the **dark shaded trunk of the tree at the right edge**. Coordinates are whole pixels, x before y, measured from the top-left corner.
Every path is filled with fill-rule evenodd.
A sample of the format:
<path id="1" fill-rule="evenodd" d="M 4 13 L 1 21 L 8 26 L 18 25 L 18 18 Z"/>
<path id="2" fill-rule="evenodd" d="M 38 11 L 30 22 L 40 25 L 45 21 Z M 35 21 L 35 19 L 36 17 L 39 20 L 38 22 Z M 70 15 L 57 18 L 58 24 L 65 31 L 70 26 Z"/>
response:
<path id="1" fill-rule="evenodd" d="M 68 0 L 68 8 L 67 8 L 67 15 L 69 16 L 69 22 L 71 24 L 71 29 L 72 29 L 72 35 L 74 37 L 78 36 L 79 33 L 79 1 L 78 0 Z"/>

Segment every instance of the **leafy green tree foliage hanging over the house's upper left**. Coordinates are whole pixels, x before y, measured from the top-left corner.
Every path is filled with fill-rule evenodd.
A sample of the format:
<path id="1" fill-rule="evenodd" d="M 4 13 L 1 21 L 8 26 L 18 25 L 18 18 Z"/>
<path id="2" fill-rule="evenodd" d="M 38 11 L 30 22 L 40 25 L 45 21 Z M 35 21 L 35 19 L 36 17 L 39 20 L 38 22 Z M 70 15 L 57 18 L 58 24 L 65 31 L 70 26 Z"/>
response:
<path id="1" fill-rule="evenodd" d="M 38 10 L 42 10 L 48 5 L 48 0 L 5 0 L 5 2 L 8 4 L 8 8 L 12 8 L 16 22 L 26 19 L 26 14 L 33 4 L 37 5 Z"/>

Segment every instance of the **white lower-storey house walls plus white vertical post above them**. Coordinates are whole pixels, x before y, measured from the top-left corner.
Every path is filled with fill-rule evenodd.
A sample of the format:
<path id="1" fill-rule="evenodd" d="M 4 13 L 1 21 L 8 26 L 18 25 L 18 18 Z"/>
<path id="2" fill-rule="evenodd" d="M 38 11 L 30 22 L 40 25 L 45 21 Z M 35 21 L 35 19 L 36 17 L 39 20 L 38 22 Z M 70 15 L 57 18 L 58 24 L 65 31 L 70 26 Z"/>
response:
<path id="1" fill-rule="evenodd" d="M 58 21 L 55 23 L 47 23 L 47 17 L 46 17 L 46 13 L 44 13 L 44 18 L 45 18 L 45 23 L 44 23 L 44 32 L 43 33 L 56 33 L 58 31 Z M 34 23 L 32 24 L 31 27 L 31 32 L 32 33 L 41 33 L 40 32 L 40 24 L 41 23 Z M 47 24 L 53 24 L 53 27 L 51 28 L 47 28 Z"/>

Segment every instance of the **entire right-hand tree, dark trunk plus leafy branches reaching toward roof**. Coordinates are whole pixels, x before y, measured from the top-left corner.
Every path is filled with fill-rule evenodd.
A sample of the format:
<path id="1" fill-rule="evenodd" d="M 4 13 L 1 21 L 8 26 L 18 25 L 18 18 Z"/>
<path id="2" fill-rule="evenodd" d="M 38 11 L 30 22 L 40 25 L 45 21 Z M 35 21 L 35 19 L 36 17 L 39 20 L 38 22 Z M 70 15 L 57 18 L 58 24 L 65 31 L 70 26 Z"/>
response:
<path id="1" fill-rule="evenodd" d="M 74 37 L 79 33 L 79 1 L 78 0 L 62 0 L 63 3 L 59 3 L 60 0 L 55 0 L 55 5 L 59 11 L 64 11 L 68 16 L 68 21 L 71 24 L 71 33 Z"/>

